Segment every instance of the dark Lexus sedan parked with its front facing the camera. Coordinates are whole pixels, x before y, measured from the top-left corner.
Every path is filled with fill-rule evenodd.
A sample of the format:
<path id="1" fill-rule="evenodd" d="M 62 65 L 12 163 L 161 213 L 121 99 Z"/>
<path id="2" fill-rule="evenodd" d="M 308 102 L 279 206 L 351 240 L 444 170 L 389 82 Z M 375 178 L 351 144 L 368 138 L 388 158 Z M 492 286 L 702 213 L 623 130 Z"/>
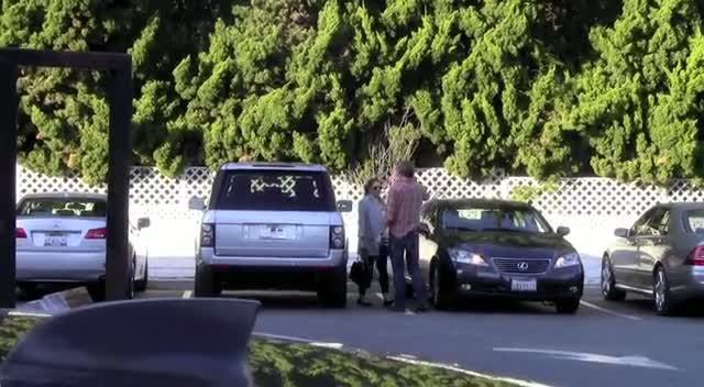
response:
<path id="1" fill-rule="evenodd" d="M 424 209 L 420 269 L 436 308 L 459 296 L 550 301 L 574 313 L 584 288 L 580 255 L 525 202 L 431 200 Z"/>

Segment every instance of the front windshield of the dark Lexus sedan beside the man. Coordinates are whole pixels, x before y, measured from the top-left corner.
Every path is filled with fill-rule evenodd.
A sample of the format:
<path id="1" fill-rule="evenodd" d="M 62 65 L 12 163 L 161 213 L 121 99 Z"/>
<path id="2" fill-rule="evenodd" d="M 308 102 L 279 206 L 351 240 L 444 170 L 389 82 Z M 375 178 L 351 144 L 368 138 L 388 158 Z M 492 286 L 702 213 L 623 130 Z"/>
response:
<path id="1" fill-rule="evenodd" d="M 462 231 L 552 232 L 548 222 L 529 208 L 462 206 L 441 212 L 441 226 Z"/>

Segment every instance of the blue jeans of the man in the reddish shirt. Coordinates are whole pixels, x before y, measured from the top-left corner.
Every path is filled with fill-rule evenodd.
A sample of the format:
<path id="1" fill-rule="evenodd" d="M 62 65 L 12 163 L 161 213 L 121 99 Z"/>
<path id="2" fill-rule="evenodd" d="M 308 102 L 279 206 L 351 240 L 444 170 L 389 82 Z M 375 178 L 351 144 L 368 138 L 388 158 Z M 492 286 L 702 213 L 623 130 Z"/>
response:
<path id="1" fill-rule="evenodd" d="M 391 235 L 391 257 L 394 269 L 394 308 L 406 308 L 406 276 L 405 266 L 408 266 L 408 274 L 414 280 L 414 290 L 418 306 L 425 306 L 428 301 L 426 284 L 420 276 L 418 267 L 418 232 L 411 231 L 405 236 Z M 406 265 L 404 265 L 404 253 Z"/>

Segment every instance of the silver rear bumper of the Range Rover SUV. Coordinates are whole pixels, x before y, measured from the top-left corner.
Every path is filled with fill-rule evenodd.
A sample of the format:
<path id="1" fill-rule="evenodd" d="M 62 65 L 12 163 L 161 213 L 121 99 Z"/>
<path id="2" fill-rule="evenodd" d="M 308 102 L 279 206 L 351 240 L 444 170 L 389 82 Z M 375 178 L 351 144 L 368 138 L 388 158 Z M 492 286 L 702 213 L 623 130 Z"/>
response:
<path id="1" fill-rule="evenodd" d="M 201 248 L 197 261 L 212 267 L 228 268 L 332 268 L 346 265 L 348 253 L 343 250 L 330 250 L 328 256 L 316 257 L 252 257 L 252 256 L 221 256 L 216 255 L 212 248 Z"/>

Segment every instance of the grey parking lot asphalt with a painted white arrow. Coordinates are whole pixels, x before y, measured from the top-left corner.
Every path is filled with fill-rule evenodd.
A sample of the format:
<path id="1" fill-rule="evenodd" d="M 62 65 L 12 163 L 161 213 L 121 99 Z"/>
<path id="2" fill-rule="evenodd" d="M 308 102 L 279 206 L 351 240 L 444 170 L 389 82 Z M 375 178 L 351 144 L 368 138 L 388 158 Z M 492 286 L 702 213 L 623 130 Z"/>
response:
<path id="1" fill-rule="evenodd" d="M 142 297 L 189 297 L 188 281 L 153 283 Z M 376 297 L 360 307 L 320 307 L 312 294 L 231 292 L 263 309 L 255 331 L 405 354 L 554 386 L 698 386 L 704 312 L 654 314 L 650 300 L 604 301 L 587 286 L 574 316 L 542 303 L 465 301 L 452 311 L 392 313 Z"/>

